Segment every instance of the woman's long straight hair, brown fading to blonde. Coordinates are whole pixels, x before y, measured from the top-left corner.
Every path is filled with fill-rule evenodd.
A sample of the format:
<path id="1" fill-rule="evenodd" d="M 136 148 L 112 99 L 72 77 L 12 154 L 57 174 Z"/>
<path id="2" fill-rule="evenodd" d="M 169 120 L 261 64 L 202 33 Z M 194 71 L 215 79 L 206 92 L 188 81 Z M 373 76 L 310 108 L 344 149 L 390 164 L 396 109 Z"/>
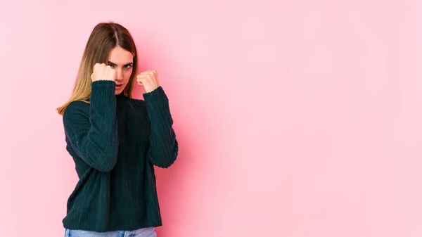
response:
<path id="1" fill-rule="evenodd" d="M 132 98 L 133 81 L 138 70 L 138 53 L 132 35 L 120 24 L 98 23 L 89 36 L 87 46 L 85 46 L 81 64 L 75 81 L 72 94 L 69 100 L 59 108 L 57 112 L 63 115 L 66 107 L 73 101 L 84 101 L 89 103 L 91 97 L 91 74 L 96 63 L 108 63 L 108 56 L 116 46 L 120 46 L 134 55 L 132 75 L 130 76 L 123 94 Z"/>

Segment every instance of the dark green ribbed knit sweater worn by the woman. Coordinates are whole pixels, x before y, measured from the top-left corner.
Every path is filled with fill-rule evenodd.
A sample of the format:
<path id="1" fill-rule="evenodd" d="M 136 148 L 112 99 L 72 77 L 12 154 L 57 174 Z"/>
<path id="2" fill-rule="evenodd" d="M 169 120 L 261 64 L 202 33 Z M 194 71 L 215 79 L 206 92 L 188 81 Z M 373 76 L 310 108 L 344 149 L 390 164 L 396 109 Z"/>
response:
<path id="1" fill-rule="evenodd" d="M 66 229 L 162 225 L 154 165 L 170 167 L 179 146 L 162 87 L 143 98 L 115 95 L 115 82 L 96 81 L 90 103 L 74 101 L 66 108 L 66 149 L 79 177 L 68 198 Z"/>

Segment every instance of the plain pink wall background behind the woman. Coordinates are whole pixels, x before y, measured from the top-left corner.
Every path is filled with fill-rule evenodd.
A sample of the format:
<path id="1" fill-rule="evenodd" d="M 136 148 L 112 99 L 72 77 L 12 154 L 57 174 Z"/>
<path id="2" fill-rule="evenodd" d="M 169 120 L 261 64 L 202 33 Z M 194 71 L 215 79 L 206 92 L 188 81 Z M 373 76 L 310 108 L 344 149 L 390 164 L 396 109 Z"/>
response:
<path id="1" fill-rule="evenodd" d="M 103 20 L 170 97 L 158 236 L 422 236 L 422 1 L 58 2 L 0 3 L 1 236 L 63 236 L 55 108 Z"/>

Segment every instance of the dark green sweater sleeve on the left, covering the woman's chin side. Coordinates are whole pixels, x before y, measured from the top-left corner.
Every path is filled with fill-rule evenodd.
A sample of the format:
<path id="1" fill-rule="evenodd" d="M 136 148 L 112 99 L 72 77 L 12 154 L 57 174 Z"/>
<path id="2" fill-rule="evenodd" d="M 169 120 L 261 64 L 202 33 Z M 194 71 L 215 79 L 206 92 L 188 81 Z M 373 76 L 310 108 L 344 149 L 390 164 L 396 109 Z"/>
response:
<path id="1" fill-rule="evenodd" d="M 90 105 L 75 101 L 63 113 L 65 134 L 82 160 L 101 172 L 117 162 L 118 139 L 115 82 L 91 84 Z"/>

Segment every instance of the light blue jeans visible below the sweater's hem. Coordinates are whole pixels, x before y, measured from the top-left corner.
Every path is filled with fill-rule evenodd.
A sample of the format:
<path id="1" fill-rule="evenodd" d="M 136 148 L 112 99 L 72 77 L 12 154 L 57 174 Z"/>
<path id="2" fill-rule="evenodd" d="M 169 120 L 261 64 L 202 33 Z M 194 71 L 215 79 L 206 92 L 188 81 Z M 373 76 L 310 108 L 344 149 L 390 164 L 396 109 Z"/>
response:
<path id="1" fill-rule="evenodd" d="M 156 237 L 155 227 L 137 229 L 134 231 L 110 231 L 98 233 L 94 231 L 82 231 L 66 229 L 65 237 Z"/>

